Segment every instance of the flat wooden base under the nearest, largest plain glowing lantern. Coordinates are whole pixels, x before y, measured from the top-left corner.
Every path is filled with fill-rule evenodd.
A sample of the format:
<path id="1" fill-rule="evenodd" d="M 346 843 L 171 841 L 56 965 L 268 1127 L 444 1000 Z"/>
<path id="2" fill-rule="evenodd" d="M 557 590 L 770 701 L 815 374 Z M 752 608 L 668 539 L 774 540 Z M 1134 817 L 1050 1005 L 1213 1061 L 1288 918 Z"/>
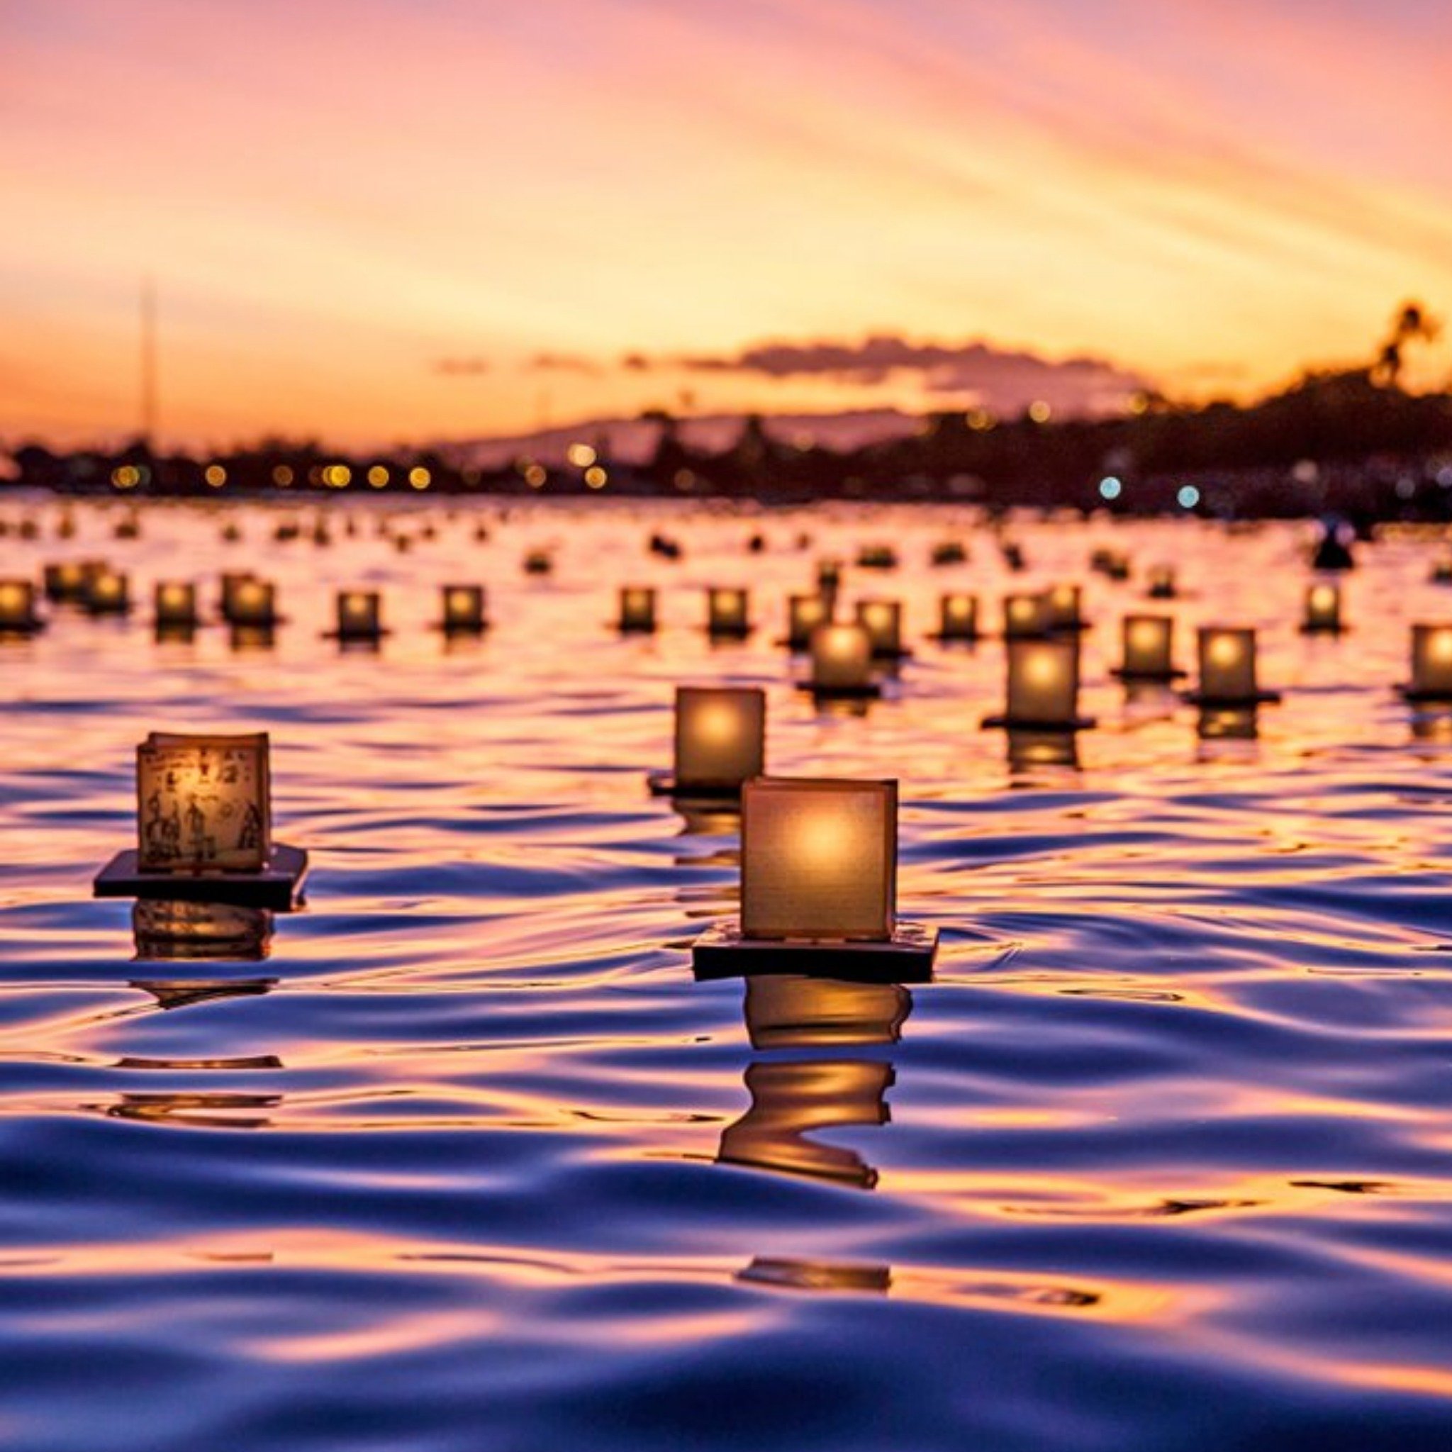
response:
<path id="1" fill-rule="evenodd" d="M 900 922 L 881 942 L 823 938 L 743 938 L 735 921 L 716 923 L 691 945 L 697 980 L 800 973 L 858 983 L 928 983 L 938 929 Z"/>

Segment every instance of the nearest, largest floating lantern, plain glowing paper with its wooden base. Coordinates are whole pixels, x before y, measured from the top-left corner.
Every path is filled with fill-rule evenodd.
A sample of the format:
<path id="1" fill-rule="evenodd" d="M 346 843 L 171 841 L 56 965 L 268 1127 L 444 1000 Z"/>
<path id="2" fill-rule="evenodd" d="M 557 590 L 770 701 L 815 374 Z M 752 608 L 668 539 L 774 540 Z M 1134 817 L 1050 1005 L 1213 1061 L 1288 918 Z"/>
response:
<path id="1" fill-rule="evenodd" d="M 742 787 L 741 926 L 701 938 L 696 971 L 764 955 L 778 971 L 931 973 L 937 934 L 899 925 L 896 896 L 896 781 L 758 777 Z"/>

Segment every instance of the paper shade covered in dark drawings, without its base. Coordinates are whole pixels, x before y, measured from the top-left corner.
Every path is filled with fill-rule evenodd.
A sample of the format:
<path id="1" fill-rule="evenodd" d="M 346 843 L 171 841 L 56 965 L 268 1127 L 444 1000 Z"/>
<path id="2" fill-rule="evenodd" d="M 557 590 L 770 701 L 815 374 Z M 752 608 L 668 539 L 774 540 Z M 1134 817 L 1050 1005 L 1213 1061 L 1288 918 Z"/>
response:
<path id="1" fill-rule="evenodd" d="M 136 748 L 136 845 L 144 873 L 260 873 L 272 858 L 266 733 L 152 732 Z"/>

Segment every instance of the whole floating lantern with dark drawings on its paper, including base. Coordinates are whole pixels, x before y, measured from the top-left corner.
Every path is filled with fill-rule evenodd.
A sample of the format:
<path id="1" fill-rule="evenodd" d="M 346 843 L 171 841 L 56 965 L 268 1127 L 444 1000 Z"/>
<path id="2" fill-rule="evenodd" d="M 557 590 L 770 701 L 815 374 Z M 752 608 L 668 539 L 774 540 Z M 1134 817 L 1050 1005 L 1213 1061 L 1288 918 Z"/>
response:
<path id="1" fill-rule="evenodd" d="M 136 748 L 136 847 L 96 878 L 97 897 L 290 908 L 308 855 L 272 839 L 266 733 L 152 732 Z"/>

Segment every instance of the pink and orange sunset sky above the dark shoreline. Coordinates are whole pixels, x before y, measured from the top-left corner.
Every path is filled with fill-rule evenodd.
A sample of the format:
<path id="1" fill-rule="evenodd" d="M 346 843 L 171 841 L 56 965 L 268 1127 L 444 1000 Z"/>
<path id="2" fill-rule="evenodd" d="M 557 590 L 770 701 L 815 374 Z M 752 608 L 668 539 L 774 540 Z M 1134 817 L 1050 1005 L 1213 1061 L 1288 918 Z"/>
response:
<path id="1" fill-rule="evenodd" d="M 1446 0 L 0 0 L 0 439 L 136 428 L 147 274 L 167 443 L 1253 393 L 1452 315 L 1449 73 Z"/>

